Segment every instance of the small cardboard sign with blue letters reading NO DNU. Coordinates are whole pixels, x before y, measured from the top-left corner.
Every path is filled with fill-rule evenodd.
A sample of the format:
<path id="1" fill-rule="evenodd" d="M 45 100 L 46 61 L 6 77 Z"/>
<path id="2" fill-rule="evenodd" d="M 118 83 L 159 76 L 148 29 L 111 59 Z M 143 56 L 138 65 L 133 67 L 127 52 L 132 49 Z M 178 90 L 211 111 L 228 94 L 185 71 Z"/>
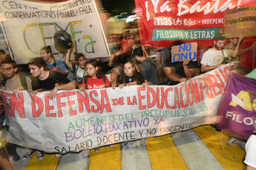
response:
<path id="1" fill-rule="evenodd" d="M 181 44 L 171 47 L 171 62 L 179 62 L 184 59 L 197 61 L 197 43 Z"/>

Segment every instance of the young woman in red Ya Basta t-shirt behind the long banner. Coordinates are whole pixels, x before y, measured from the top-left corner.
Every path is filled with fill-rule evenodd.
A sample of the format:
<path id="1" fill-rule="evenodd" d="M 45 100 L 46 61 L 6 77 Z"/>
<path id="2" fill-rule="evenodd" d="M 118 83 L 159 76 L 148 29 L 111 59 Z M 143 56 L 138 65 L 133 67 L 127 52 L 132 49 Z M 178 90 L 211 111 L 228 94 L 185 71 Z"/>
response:
<path id="1" fill-rule="evenodd" d="M 85 89 L 103 89 L 111 85 L 107 76 L 99 69 L 99 61 L 96 61 L 96 59 L 87 61 L 85 68 L 88 75 L 82 79 L 82 84 L 79 84 L 80 91 L 84 92 Z M 112 148 L 113 145 L 109 147 Z M 99 152 L 99 148 L 94 149 L 94 152 Z M 83 157 L 88 157 L 89 154 L 90 150 L 82 151 Z"/>

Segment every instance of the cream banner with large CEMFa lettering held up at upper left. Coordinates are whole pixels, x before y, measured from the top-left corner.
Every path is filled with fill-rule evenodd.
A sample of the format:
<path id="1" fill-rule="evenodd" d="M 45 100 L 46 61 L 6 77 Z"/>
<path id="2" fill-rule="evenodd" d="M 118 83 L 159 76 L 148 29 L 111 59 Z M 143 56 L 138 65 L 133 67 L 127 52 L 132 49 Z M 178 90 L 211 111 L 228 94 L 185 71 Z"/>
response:
<path id="1" fill-rule="evenodd" d="M 70 0 L 42 4 L 22 0 L 0 0 L 0 17 L 13 49 L 15 61 L 27 64 L 50 45 L 56 58 L 62 58 L 54 47 L 53 35 L 58 30 L 70 33 L 73 52 L 86 58 L 108 57 L 108 45 L 93 0 Z"/>

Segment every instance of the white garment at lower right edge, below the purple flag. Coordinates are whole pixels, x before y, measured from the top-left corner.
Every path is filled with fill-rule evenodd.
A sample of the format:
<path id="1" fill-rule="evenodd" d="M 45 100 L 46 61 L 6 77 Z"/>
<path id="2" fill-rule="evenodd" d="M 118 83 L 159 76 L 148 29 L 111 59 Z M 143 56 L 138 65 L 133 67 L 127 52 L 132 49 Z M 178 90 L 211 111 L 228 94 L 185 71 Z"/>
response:
<path id="1" fill-rule="evenodd" d="M 246 159 L 243 162 L 256 169 L 256 135 L 251 135 L 246 142 Z"/>

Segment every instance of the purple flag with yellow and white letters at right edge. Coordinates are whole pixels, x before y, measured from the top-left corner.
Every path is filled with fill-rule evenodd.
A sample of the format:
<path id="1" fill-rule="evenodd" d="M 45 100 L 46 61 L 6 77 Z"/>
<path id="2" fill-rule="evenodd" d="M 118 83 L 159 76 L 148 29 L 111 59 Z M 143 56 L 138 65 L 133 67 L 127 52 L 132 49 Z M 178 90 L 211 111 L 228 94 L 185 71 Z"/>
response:
<path id="1" fill-rule="evenodd" d="M 248 139 L 256 123 L 256 80 L 232 74 L 220 100 L 217 124 L 232 136 Z"/>

